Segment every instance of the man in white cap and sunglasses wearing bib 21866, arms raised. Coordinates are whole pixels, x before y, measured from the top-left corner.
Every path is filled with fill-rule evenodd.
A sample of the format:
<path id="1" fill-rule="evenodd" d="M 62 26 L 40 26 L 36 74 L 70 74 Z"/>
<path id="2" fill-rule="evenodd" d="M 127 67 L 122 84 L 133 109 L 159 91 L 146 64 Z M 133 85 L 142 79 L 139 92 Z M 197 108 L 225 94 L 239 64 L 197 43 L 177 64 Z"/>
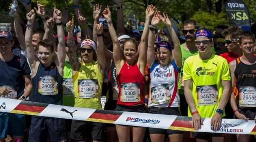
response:
<path id="1" fill-rule="evenodd" d="M 81 62 L 77 59 L 73 33 L 68 33 L 69 59 L 73 75 L 74 106 L 102 109 L 100 97 L 106 64 L 103 51 L 103 25 L 97 24 L 94 28 L 97 33 L 97 49 L 95 42 L 85 39 L 79 48 Z M 69 28 L 69 31 L 73 31 L 73 28 Z M 88 135 L 86 130 L 89 130 L 93 141 L 103 141 L 102 127 L 103 123 L 72 120 L 70 138 L 76 142 L 84 142 Z"/>

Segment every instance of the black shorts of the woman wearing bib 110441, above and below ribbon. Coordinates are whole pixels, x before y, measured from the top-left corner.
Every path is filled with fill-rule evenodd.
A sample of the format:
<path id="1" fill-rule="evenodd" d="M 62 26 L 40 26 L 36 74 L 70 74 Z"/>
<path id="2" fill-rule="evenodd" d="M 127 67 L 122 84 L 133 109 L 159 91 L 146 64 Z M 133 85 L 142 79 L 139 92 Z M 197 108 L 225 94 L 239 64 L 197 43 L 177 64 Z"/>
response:
<path id="1" fill-rule="evenodd" d="M 169 108 L 157 108 L 151 107 L 151 114 L 167 114 L 167 115 L 177 115 L 180 116 L 179 107 L 169 107 Z M 149 134 L 183 134 L 183 131 L 169 130 L 169 129 L 159 129 L 159 128 L 149 128 Z"/>

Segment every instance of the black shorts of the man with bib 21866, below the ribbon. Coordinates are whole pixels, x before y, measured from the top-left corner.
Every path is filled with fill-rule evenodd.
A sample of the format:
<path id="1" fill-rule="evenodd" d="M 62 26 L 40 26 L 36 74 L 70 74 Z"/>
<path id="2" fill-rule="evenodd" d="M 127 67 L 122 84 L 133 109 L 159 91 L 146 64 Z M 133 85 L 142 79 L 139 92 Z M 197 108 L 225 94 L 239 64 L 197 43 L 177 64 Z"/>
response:
<path id="1" fill-rule="evenodd" d="M 70 138 L 73 142 L 86 140 L 88 134 L 91 135 L 92 140 L 103 140 L 103 125 L 104 123 L 72 120 Z"/>

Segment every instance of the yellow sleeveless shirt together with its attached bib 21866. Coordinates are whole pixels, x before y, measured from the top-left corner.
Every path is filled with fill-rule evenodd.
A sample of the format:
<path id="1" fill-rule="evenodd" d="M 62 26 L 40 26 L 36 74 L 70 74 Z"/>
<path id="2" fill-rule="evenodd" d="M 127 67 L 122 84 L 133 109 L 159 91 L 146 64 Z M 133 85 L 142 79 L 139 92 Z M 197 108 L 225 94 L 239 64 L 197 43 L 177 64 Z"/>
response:
<path id="1" fill-rule="evenodd" d="M 102 109 L 100 96 L 102 93 L 103 75 L 98 66 L 92 63 L 80 63 L 79 69 L 73 76 L 75 107 Z"/>

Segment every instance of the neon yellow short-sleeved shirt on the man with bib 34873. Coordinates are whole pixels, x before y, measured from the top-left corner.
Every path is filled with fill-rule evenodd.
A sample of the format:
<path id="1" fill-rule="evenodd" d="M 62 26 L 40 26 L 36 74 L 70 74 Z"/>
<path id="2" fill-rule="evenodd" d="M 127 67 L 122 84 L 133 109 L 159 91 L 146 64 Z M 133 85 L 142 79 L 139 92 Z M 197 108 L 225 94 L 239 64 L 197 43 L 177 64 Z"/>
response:
<path id="1" fill-rule="evenodd" d="M 212 54 L 211 58 L 202 60 L 199 55 L 190 56 L 186 59 L 183 66 L 183 80 L 192 79 L 192 95 L 195 101 L 196 109 L 198 110 L 201 117 L 211 118 L 218 109 L 218 103 L 222 96 L 222 85 L 221 80 L 230 81 L 230 70 L 227 64 L 227 60 L 221 56 Z M 215 105 L 198 105 L 198 94 L 197 86 L 209 86 L 216 85 L 216 104 Z M 205 96 L 203 96 L 205 97 Z M 208 97 L 208 96 L 207 96 Z M 205 98 L 202 98 L 203 100 Z M 188 116 L 192 116 L 192 112 L 188 109 Z M 222 117 L 225 116 L 225 111 Z"/>

